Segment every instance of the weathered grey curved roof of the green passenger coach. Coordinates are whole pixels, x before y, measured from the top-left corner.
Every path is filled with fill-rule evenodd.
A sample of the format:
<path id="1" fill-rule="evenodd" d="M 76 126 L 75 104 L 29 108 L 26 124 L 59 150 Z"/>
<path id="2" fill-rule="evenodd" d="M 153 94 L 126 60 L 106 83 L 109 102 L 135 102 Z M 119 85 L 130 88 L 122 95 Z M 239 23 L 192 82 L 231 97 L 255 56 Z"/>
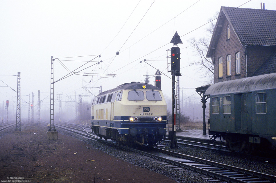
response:
<path id="1" fill-rule="evenodd" d="M 248 78 L 223 81 L 211 85 L 205 92 L 205 96 L 244 93 L 263 89 L 276 88 L 276 73 L 264 74 Z"/>

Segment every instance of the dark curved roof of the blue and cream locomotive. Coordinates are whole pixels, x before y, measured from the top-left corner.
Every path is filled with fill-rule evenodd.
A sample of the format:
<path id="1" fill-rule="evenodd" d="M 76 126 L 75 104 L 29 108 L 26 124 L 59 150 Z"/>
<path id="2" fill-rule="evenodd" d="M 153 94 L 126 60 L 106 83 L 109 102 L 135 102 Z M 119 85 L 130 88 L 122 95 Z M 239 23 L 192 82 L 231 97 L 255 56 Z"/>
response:
<path id="1" fill-rule="evenodd" d="M 142 87 L 143 85 L 146 85 L 145 89 L 160 90 L 156 86 L 153 86 L 153 85 L 150 85 L 150 84 L 146 84 L 146 83 L 143 83 L 143 82 L 127 82 L 127 83 L 124 83 L 122 85 L 119 85 L 117 88 L 104 91 L 104 92 L 98 94 L 97 96 L 102 96 L 102 95 L 114 93 L 114 92 L 121 91 L 121 90 L 143 89 L 143 87 Z"/>

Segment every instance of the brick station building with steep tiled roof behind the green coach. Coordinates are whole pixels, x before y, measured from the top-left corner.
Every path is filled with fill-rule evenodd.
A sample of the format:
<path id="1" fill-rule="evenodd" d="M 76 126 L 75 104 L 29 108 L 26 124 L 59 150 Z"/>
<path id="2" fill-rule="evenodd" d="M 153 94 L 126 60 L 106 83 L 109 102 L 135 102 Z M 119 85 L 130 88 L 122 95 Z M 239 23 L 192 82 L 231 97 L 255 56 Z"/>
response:
<path id="1" fill-rule="evenodd" d="M 276 72 L 276 11 L 222 6 L 207 57 L 215 83 Z"/>

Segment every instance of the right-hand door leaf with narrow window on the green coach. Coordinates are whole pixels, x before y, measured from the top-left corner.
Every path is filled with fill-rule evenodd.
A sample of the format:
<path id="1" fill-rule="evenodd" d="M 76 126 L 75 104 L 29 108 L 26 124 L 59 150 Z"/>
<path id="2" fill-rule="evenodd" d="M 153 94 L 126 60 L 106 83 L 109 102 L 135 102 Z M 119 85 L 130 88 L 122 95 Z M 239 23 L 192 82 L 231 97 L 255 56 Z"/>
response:
<path id="1" fill-rule="evenodd" d="M 251 93 L 241 96 L 241 128 L 243 131 L 251 132 Z"/>

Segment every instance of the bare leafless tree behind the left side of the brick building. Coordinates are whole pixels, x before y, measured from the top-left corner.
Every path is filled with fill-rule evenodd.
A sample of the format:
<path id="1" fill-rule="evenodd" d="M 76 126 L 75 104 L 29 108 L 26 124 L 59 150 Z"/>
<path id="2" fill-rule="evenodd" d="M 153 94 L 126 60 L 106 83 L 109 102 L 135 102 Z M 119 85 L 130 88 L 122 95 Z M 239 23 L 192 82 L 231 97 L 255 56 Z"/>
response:
<path id="1" fill-rule="evenodd" d="M 206 28 L 207 36 L 203 38 L 191 38 L 188 40 L 191 43 L 191 46 L 194 50 L 195 55 L 199 58 L 197 61 L 190 63 L 190 65 L 197 65 L 198 71 L 202 72 L 202 78 L 207 79 L 208 84 L 214 83 L 214 64 L 211 58 L 207 58 L 206 54 L 209 49 L 209 44 L 211 37 L 214 32 L 214 28 L 216 25 L 216 19 L 218 17 L 218 13 L 214 17 L 209 18 L 209 26 Z"/>

